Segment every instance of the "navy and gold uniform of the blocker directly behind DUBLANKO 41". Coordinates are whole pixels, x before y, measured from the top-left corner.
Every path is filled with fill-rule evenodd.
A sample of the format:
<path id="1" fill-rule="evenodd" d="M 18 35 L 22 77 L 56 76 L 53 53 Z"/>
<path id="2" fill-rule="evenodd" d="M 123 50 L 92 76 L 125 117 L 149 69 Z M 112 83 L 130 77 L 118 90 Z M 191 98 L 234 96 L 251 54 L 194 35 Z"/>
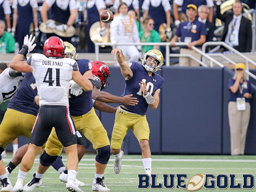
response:
<path id="1" fill-rule="evenodd" d="M 78 59 L 76 62 L 81 74 L 92 68 L 88 59 Z M 94 149 L 110 145 L 107 131 L 93 108 L 92 91 L 82 92 L 78 96 L 71 95 L 71 98 L 69 98 L 69 111 L 76 130 L 80 130 L 92 142 Z M 62 147 L 53 129 L 47 140 L 45 150 L 50 156 L 57 156 L 61 153 Z"/>

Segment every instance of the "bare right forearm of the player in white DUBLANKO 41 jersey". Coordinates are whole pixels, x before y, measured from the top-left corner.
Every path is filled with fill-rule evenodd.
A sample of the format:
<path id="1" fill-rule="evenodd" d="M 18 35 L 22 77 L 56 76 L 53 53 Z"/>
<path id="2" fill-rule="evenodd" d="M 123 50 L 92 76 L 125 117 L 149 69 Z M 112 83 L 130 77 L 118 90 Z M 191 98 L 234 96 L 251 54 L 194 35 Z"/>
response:
<path id="1" fill-rule="evenodd" d="M 94 86 L 93 79 L 86 79 L 84 76 L 81 75 L 79 71 L 73 71 L 72 77 L 73 77 L 73 80 L 83 88 L 83 90 L 92 91 Z"/>

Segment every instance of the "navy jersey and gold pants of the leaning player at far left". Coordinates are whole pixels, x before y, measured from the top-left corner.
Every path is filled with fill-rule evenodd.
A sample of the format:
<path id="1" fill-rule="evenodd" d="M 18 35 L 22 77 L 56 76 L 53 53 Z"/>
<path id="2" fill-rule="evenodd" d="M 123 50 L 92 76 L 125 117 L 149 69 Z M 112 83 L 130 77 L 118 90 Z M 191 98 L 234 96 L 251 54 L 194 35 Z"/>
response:
<path id="1" fill-rule="evenodd" d="M 17 92 L 9 102 L 0 125 L 0 147 L 5 149 L 10 142 L 21 135 L 30 139 L 39 108 L 33 104 L 36 95 L 35 78 L 32 73 L 26 73 Z"/>

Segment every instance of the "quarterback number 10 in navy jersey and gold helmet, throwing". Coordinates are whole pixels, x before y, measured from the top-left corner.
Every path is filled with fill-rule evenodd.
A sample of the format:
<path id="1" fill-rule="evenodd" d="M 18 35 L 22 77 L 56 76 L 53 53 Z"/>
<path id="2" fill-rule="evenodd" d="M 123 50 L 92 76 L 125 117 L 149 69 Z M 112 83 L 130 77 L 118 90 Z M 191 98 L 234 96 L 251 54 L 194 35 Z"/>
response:
<path id="1" fill-rule="evenodd" d="M 137 138 L 142 150 L 142 163 L 144 171 L 151 175 L 151 152 L 149 147 L 149 124 L 145 116 L 147 107 L 156 109 L 159 104 L 159 93 L 164 79 L 156 72 L 163 65 L 163 54 L 156 49 L 145 53 L 142 64 L 138 62 L 126 62 L 121 49 L 112 50 L 116 54 L 121 73 L 125 82 L 124 94 L 137 96 L 138 105 L 125 106 L 121 104 L 116 112 L 114 128 L 111 137 L 111 153 L 115 156 L 114 172 L 121 170 L 123 151 L 121 145 L 126 133 L 131 129 Z"/>

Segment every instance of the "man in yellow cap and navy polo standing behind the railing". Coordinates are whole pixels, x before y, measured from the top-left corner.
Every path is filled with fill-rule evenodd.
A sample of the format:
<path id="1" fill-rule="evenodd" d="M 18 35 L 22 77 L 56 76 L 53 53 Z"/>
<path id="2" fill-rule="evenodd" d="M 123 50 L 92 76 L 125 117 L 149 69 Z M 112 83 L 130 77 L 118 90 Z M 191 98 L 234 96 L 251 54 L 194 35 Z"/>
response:
<path id="1" fill-rule="evenodd" d="M 180 48 L 180 54 L 189 54 L 201 60 L 201 54 L 192 50 L 192 47 L 201 48 L 201 45 L 206 41 L 206 25 L 196 19 L 197 7 L 194 4 L 187 5 L 186 14 L 188 21 L 182 22 L 179 25 L 175 35 L 171 39 L 170 45 L 175 46 L 178 37 L 181 37 L 181 42 L 186 42 L 188 45 Z M 198 62 L 189 57 L 180 57 L 179 64 L 180 66 L 199 66 Z"/>

